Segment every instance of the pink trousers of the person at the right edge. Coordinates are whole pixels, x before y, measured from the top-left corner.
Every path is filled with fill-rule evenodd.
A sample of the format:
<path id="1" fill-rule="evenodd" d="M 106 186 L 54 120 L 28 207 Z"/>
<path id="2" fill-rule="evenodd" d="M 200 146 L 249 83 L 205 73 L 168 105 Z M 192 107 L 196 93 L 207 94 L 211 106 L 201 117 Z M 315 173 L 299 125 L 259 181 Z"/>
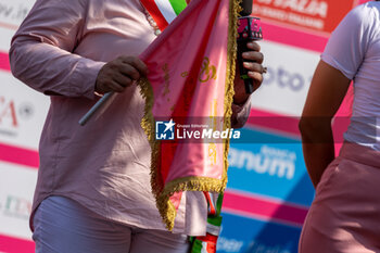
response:
<path id="1" fill-rule="evenodd" d="M 380 152 L 344 142 L 316 189 L 300 253 L 380 252 Z"/>

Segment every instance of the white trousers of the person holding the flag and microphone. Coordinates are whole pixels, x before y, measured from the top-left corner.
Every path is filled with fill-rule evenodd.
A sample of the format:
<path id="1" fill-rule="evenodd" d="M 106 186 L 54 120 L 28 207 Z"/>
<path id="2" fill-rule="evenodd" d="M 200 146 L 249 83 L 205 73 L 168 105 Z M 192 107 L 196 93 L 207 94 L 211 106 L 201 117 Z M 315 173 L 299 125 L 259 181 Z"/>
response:
<path id="1" fill-rule="evenodd" d="M 186 253 L 188 237 L 106 220 L 63 197 L 43 200 L 34 217 L 36 253 Z"/>

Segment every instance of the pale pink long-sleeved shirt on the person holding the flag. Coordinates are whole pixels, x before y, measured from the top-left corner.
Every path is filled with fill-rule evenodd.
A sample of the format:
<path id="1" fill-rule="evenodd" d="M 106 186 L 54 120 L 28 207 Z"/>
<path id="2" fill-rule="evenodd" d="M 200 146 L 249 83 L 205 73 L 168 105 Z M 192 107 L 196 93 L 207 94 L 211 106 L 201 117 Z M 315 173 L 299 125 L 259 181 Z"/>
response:
<path id="1" fill-rule="evenodd" d="M 51 96 L 33 212 L 47 197 L 63 195 L 111 220 L 165 229 L 151 193 L 138 88 L 127 88 L 99 118 L 78 125 L 99 99 L 94 81 L 104 63 L 139 55 L 154 38 L 138 0 L 37 0 L 10 50 L 13 74 Z M 205 232 L 206 205 L 198 193 L 183 198 L 175 232 Z"/>

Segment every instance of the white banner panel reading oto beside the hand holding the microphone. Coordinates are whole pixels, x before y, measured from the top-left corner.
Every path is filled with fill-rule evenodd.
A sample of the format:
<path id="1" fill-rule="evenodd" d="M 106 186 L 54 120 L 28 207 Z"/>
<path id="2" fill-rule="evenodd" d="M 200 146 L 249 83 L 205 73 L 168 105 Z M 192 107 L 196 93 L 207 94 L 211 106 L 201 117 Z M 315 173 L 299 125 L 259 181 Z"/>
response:
<path id="1" fill-rule="evenodd" d="M 252 94 L 253 107 L 300 116 L 320 53 L 269 41 L 259 45 L 268 73 Z"/>

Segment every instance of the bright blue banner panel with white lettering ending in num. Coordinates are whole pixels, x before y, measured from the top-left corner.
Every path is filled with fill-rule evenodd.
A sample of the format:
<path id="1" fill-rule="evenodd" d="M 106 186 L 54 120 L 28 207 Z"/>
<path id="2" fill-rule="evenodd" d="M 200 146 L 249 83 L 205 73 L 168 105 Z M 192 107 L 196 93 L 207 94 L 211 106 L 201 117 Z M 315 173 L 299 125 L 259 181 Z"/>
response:
<path id="1" fill-rule="evenodd" d="M 300 140 L 243 128 L 229 151 L 228 188 L 308 206 L 314 188 Z"/>

